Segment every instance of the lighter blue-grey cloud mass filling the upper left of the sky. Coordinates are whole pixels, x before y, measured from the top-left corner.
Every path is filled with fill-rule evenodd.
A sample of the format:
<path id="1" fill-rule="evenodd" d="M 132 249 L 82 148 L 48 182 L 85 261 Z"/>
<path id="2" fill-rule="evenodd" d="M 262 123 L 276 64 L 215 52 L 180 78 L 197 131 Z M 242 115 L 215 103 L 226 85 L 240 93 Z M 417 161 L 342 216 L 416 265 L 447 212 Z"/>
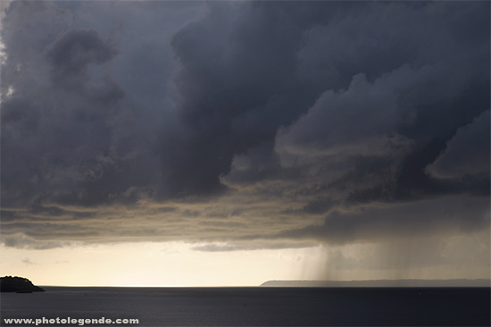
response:
<path id="1" fill-rule="evenodd" d="M 15 2 L 7 8 L 4 207 L 134 203 L 152 192 L 160 174 L 154 153 L 159 124 L 171 111 L 165 92 L 171 60 L 155 60 L 171 58 L 171 35 L 153 31 L 132 47 L 136 35 L 155 27 L 137 25 L 132 20 L 138 15 L 162 19 L 133 3 Z M 146 77 L 149 63 L 142 55 L 158 64 L 155 76 Z M 149 85 L 154 96 L 148 96 Z"/>

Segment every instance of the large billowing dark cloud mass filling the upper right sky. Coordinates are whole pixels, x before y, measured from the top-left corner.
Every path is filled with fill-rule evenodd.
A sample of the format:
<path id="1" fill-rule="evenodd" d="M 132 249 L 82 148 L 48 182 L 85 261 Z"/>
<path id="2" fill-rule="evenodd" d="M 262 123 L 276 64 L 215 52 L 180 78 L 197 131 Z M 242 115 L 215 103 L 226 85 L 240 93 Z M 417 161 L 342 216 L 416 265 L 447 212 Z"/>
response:
<path id="1" fill-rule="evenodd" d="M 350 212 L 282 236 L 346 242 L 447 232 L 445 226 L 459 223 L 469 224 L 465 231 L 489 228 L 489 16 L 479 13 L 482 4 L 461 5 L 371 4 L 363 13 L 304 29 L 297 76 L 318 81 L 325 91 L 298 120 L 279 129 L 278 159 L 269 165 L 274 170 L 268 172 L 263 156 L 249 150 L 236 156 L 222 180 L 239 189 L 254 180 L 262 191 L 277 176 L 286 181 L 296 171 L 290 198 L 304 196 L 304 214 Z M 459 11 L 479 19 L 467 24 Z M 459 157 L 455 148 L 464 138 L 468 152 L 460 150 Z M 452 153 L 454 160 L 444 161 Z M 444 163 L 460 171 L 442 180 L 437 169 L 443 171 Z M 447 221 L 430 208 L 445 206 L 454 198 L 450 194 L 468 193 L 479 198 L 477 212 L 464 206 Z M 434 204 L 420 202 L 424 198 Z M 370 214 L 377 211 L 372 205 L 383 203 L 391 209 Z M 424 220 L 412 219 L 407 210 Z"/>

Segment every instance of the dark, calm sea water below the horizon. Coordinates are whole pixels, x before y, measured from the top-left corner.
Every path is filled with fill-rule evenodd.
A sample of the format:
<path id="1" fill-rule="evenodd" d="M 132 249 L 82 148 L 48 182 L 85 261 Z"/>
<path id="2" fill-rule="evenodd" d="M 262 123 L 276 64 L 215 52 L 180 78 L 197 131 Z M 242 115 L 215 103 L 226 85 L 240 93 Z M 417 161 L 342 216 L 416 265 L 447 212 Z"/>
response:
<path id="1" fill-rule="evenodd" d="M 137 318 L 139 327 L 491 324 L 489 288 L 45 289 L 44 293 L 2 293 L 1 325 L 7 325 L 5 318 L 42 317 Z"/>

